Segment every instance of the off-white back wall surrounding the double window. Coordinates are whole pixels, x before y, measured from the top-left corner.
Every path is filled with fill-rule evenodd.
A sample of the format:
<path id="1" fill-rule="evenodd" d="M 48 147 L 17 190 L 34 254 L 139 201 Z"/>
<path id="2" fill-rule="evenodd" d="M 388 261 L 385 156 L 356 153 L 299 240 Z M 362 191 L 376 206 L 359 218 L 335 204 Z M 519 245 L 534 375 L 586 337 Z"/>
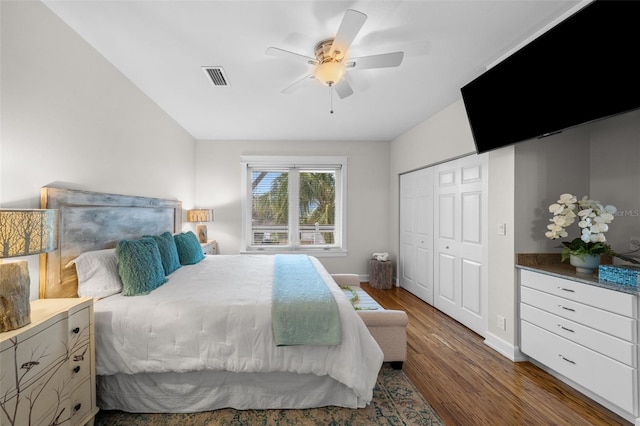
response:
<path id="1" fill-rule="evenodd" d="M 240 252 L 242 155 L 335 155 L 348 157 L 346 257 L 320 257 L 331 273 L 368 274 L 372 252 L 390 251 L 389 142 L 199 141 L 197 207 L 213 208 L 208 236 L 221 254 Z"/>

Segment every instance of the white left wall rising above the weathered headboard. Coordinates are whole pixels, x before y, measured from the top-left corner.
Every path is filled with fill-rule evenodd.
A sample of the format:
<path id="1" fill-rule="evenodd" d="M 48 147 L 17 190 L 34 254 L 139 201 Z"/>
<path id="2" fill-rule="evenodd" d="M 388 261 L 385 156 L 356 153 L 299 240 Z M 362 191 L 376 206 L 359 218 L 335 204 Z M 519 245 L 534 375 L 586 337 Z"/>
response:
<path id="1" fill-rule="evenodd" d="M 0 8 L 0 207 L 39 208 L 54 182 L 190 207 L 195 140 L 40 2 Z"/>

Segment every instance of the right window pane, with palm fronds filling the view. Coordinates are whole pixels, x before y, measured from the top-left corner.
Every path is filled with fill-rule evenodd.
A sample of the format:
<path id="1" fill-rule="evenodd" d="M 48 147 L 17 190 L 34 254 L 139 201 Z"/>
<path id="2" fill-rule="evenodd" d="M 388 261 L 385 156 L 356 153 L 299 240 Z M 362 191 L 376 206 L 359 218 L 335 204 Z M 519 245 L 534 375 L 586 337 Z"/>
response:
<path id="1" fill-rule="evenodd" d="M 299 187 L 300 244 L 335 244 L 335 171 L 301 171 Z"/>

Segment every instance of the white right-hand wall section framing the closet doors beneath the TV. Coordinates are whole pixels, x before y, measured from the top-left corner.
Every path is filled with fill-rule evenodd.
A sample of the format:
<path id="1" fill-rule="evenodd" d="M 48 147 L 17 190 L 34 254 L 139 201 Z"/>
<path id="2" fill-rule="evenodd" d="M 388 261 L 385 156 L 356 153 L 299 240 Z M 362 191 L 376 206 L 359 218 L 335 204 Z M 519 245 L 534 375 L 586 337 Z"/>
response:
<path id="1" fill-rule="evenodd" d="M 395 201 L 399 197 L 399 175 L 473 153 L 475 145 L 461 99 L 391 143 L 389 235 L 394 256 L 399 250 L 399 207 Z M 489 153 L 488 333 L 491 339 L 503 341 L 507 347 L 516 338 L 514 173 L 513 147 Z M 498 223 L 507 225 L 506 236 L 498 237 L 492 232 Z M 506 330 L 497 328 L 492 320 L 496 315 L 507 319 Z"/>

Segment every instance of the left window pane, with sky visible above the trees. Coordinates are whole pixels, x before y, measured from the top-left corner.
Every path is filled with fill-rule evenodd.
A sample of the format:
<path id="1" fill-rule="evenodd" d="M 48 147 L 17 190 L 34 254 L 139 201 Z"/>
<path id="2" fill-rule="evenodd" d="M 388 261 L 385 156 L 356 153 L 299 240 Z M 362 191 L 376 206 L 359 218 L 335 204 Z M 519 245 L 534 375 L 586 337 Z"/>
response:
<path id="1" fill-rule="evenodd" d="M 251 188 L 253 244 L 288 244 L 289 174 L 286 171 L 253 170 Z"/>

